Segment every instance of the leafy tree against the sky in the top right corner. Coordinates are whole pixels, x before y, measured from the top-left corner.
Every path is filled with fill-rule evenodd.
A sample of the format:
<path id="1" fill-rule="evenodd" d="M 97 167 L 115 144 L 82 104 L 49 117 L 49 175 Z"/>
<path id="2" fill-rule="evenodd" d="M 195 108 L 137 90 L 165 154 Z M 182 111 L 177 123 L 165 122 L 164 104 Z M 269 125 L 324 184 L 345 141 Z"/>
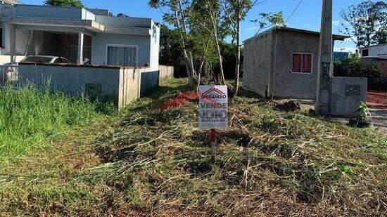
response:
<path id="1" fill-rule="evenodd" d="M 341 24 L 341 32 L 353 36 L 351 39 L 357 48 L 387 43 L 387 3 L 384 1 L 362 1 L 341 10 L 340 15 L 348 22 Z"/>

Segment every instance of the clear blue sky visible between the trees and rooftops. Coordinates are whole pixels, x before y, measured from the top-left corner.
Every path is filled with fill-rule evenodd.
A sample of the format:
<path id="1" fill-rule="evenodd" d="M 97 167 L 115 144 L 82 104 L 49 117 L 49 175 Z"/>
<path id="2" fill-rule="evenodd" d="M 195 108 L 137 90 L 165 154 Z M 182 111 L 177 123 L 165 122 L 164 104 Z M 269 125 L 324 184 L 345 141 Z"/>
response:
<path id="1" fill-rule="evenodd" d="M 43 0 L 20 0 L 24 4 L 43 4 Z M 262 0 L 263 1 L 263 0 Z M 242 39 L 253 37 L 257 29 L 253 22 L 262 12 L 279 11 L 284 12 L 284 18 L 288 18 L 294 11 L 300 0 L 267 0 L 265 3 L 255 6 L 249 13 L 246 20 L 242 23 Z M 339 23 L 342 21 L 339 13 L 342 8 L 348 8 L 352 4 L 359 4 L 362 0 L 334 0 L 334 33 L 339 34 Z M 153 8 L 148 7 L 148 0 L 83 0 L 85 6 L 89 8 L 106 8 L 109 11 L 125 13 L 133 17 L 153 18 L 156 22 L 163 22 L 162 14 Z M 322 0 L 303 0 L 297 11 L 288 20 L 288 27 L 309 29 L 319 31 Z M 348 41 L 336 41 L 335 51 L 355 51 L 355 44 Z"/>

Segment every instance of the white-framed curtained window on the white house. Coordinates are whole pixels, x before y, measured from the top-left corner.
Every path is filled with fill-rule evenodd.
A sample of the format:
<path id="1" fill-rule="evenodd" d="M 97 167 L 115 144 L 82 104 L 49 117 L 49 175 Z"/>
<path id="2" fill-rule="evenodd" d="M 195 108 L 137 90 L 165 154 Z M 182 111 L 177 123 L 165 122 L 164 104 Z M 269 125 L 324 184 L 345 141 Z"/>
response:
<path id="1" fill-rule="evenodd" d="M 108 65 L 137 66 L 137 46 L 108 46 Z"/>

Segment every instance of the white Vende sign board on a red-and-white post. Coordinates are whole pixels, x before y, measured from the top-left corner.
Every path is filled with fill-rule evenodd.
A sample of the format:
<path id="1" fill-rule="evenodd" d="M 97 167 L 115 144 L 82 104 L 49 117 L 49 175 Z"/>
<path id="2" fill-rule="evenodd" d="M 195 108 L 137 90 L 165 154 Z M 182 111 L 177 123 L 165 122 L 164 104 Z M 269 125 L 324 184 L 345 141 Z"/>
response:
<path id="1" fill-rule="evenodd" d="M 199 86 L 199 128 L 227 129 L 227 86 Z"/>

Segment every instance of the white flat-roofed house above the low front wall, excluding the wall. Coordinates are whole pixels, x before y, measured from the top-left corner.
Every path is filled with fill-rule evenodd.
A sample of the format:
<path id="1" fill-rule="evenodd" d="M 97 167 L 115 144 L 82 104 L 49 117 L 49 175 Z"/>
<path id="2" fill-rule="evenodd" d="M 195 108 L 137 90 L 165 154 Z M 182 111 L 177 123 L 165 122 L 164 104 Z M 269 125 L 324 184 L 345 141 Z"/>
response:
<path id="1" fill-rule="evenodd" d="M 56 55 L 82 64 L 158 70 L 160 25 L 108 10 L 0 4 L 1 55 Z M 4 59 L 4 58 L 2 58 Z M 4 63 L 5 60 L 3 60 Z"/>

